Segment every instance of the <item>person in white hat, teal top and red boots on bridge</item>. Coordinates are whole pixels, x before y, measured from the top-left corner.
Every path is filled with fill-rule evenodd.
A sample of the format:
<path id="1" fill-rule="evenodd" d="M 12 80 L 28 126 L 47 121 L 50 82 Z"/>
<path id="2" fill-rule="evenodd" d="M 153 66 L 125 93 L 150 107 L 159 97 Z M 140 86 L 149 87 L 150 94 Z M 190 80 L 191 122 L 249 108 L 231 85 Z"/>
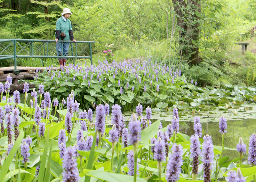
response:
<path id="1" fill-rule="evenodd" d="M 64 8 L 63 12 L 61 13 L 61 17 L 57 19 L 56 22 L 56 48 L 57 48 L 57 55 L 62 55 L 62 48 L 63 48 L 63 56 L 68 56 L 68 49 L 69 49 L 69 42 L 57 42 L 58 40 L 72 40 L 76 42 L 73 36 L 73 31 L 71 27 L 71 21 L 68 19 L 71 15 L 71 11 L 68 8 Z M 59 63 L 60 65 L 64 66 L 66 64 L 67 59 L 60 58 Z"/>

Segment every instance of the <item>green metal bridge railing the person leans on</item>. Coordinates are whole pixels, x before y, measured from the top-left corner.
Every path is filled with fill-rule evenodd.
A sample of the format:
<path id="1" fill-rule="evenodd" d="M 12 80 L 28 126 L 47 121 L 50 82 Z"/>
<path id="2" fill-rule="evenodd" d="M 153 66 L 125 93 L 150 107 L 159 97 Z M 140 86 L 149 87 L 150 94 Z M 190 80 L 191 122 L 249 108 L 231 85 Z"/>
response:
<path id="1" fill-rule="evenodd" d="M 57 56 L 55 40 L 0 39 L 0 60 L 14 59 L 14 71 L 17 71 L 17 58 L 88 58 L 92 64 L 92 44 L 94 41 L 63 41 L 71 43 L 71 56 Z M 13 46 L 13 47 L 12 47 Z M 89 46 L 89 51 L 88 51 Z M 75 51 L 74 51 L 75 49 Z"/>

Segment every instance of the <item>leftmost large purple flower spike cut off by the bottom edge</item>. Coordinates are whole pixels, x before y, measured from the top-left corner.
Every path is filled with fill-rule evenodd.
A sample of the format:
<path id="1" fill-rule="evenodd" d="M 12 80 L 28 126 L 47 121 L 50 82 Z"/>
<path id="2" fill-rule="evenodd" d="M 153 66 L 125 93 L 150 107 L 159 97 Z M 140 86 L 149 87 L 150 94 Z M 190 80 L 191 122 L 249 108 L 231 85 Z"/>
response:
<path id="1" fill-rule="evenodd" d="M 77 182 L 79 180 L 79 174 L 76 163 L 76 148 L 68 147 L 64 152 L 63 164 L 62 164 L 62 180 L 65 182 Z"/>

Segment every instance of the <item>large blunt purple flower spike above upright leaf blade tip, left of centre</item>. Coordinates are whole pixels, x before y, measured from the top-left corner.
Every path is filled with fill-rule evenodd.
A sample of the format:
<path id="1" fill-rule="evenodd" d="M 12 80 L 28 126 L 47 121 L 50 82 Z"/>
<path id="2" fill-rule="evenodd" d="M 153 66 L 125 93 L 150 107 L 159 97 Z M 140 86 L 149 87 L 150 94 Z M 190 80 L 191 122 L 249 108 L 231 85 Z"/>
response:
<path id="1" fill-rule="evenodd" d="M 105 125 L 106 125 L 106 114 L 105 114 L 105 107 L 102 104 L 96 106 L 96 122 L 95 122 L 95 130 L 100 133 L 105 132 Z"/>

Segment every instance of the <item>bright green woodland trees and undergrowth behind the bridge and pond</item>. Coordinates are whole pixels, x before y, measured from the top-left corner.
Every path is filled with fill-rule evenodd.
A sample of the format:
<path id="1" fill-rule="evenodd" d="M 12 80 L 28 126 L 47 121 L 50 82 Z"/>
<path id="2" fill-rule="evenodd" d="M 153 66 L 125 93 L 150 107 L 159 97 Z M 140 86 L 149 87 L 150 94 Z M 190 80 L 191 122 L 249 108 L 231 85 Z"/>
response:
<path id="1" fill-rule="evenodd" d="M 2 39 L 54 39 L 56 20 L 68 7 L 75 39 L 95 41 L 93 54 L 100 56 L 112 44 L 118 58 L 156 59 L 183 68 L 203 86 L 226 83 L 225 53 L 230 45 L 251 37 L 256 25 L 256 0 L 0 0 L 0 4 Z"/>

